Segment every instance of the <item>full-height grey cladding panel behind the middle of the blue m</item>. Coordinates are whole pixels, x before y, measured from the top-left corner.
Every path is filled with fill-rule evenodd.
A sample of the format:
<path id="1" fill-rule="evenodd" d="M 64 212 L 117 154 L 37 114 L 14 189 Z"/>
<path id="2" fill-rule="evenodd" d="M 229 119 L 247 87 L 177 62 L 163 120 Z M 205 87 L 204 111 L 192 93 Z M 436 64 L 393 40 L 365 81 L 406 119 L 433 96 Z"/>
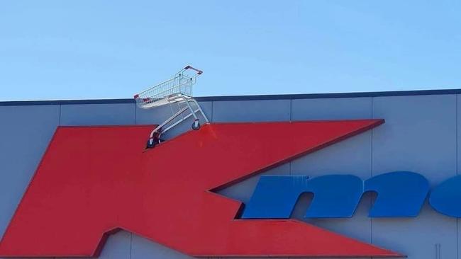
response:
<path id="1" fill-rule="evenodd" d="M 291 102 L 292 120 L 372 117 L 372 98 L 298 99 Z M 328 174 L 352 174 L 366 180 L 371 176 L 371 146 L 371 131 L 364 132 L 291 161 L 291 174 L 309 175 L 311 178 Z M 348 219 L 304 218 L 311 199 L 311 195 L 301 196 L 294 209 L 296 219 L 371 243 L 371 221 L 368 218 L 370 195 L 362 197 L 354 216 Z"/>

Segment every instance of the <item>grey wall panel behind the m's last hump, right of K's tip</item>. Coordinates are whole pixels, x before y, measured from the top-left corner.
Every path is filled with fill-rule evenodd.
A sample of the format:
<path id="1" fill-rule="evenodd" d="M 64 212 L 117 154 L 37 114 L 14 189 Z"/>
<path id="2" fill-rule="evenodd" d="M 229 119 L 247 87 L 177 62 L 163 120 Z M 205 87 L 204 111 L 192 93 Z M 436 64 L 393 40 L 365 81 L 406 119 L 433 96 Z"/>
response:
<path id="1" fill-rule="evenodd" d="M 373 175 L 415 171 L 431 186 L 456 173 L 456 97 L 401 96 L 373 99 L 373 113 L 386 123 L 373 130 Z M 373 219 L 372 242 L 409 255 L 410 259 L 457 256 L 456 219 L 427 205 L 416 218 Z"/>

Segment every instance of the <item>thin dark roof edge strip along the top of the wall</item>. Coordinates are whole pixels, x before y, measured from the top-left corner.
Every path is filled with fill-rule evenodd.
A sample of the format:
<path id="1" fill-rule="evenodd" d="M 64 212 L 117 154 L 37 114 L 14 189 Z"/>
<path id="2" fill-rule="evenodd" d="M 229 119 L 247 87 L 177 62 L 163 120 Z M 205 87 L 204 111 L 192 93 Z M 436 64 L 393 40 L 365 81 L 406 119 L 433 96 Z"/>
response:
<path id="1" fill-rule="evenodd" d="M 461 89 L 441 90 L 413 90 L 413 91 L 381 91 L 381 92 L 357 92 L 357 93 L 299 93 L 299 94 L 276 94 L 257 96 L 200 96 L 198 101 L 223 101 L 223 100 L 287 100 L 287 99 L 321 99 L 321 98 L 360 98 L 360 97 L 383 97 L 383 96 L 430 96 L 460 94 Z M 110 103 L 135 103 L 133 98 L 121 99 L 86 99 L 86 100 L 13 100 L 0 101 L 0 106 L 16 105 L 71 105 L 71 104 L 110 104 Z"/>

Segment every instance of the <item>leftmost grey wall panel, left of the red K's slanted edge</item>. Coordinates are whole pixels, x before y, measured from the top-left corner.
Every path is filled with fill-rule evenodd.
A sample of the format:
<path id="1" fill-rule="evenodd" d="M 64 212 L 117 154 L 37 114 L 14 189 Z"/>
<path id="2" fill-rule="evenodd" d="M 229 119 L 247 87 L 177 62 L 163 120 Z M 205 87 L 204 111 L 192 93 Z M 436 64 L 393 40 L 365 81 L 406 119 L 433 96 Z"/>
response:
<path id="1" fill-rule="evenodd" d="M 0 107 L 0 234 L 59 123 L 59 105 Z"/>

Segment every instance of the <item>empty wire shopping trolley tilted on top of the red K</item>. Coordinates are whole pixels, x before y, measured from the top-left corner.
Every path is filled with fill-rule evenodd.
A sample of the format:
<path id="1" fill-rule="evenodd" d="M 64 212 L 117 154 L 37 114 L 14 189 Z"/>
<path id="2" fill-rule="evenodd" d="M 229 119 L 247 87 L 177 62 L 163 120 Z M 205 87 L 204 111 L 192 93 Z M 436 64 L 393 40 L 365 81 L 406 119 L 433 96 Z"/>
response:
<path id="1" fill-rule="evenodd" d="M 193 74 L 191 71 L 194 71 Z M 194 117 L 194 122 L 191 126 L 192 129 L 200 129 L 200 120 L 196 113 L 200 113 L 206 123 L 209 122 L 204 111 L 201 110 L 199 103 L 192 98 L 192 86 L 195 84 L 197 76 L 202 73 L 203 71 L 195 69 L 194 67 L 184 67 L 184 69 L 181 69 L 174 74 L 172 79 L 168 79 L 156 86 L 152 86 L 151 88 L 148 88 L 147 90 L 134 96 L 138 107 L 143 109 L 155 108 L 167 104 L 170 106 L 175 105 L 178 109 L 177 113 L 173 113 L 172 106 L 172 116 L 150 132 L 147 144 L 148 148 L 154 147 L 156 144 L 163 142 L 160 138 L 162 134 L 165 134 L 165 132 L 184 120 L 187 120 L 187 118 L 191 116 Z M 195 108 L 192 108 L 192 106 L 195 106 Z M 180 115 L 181 117 L 179 117 Z M 172 122 L 176 118 L 179 119 Z M 168 125 L 170 122 L 172 122 L 172 124 Z"/>

